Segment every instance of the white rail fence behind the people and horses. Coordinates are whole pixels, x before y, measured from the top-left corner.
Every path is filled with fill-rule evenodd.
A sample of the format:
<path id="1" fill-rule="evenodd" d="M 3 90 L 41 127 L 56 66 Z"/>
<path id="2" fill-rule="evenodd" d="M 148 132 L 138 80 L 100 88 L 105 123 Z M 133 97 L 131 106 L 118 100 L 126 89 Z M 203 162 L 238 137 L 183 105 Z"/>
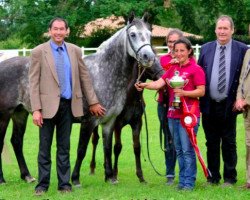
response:
<path id="1" fill-rule="evenodd" d="M 250 45 L 248 45 L 248 47 L 250 47 Z M 163 55 L 166 54 L 168 52 L 168 47 L 167 46 L 154 46 L 154 49 L 156 49 L 157 55 Z M 199 54 L 200 54 L 200 48 L 201 46 L 196 44 L 193 46 L 194 49 L 194 55 L 196 57 L 196 59 L 199 58 Z M 88 55 L 90 53 L 94 53 L 96 52 L 98 48 L 86 48 L 86 47 L 82 47 L 82 53 L 83 56 Z M 7 58 L 11 58 L 14 56 L 29 56 L 30 55 L 30 51 L 32 49 L 11 49 L 11 50 L 0 50 L 0 62 L 7 59 Z"/>

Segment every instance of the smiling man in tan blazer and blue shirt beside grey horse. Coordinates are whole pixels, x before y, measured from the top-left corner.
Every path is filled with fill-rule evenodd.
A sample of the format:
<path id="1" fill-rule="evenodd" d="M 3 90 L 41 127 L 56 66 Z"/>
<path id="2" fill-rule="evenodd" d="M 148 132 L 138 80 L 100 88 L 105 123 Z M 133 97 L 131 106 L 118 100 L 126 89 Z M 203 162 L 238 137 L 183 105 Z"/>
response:
<path id="1" fill-rule="evenodd" d="M 54 18 L 49 24 L 50 41 L 32 51 L 29 71 L 30 101 L 33 122 L 39 126 L 38 184 L 35 195 L 49 188 L 51 144 L 54 128 L 57 140 L 58 190 L 70 192 L 70 133 L 72 118 L 83 115 L 83 94 L 90 112 L 103 116 L 105 109 L 98 103 L 92 82 L 82 59 L 81 49 L 64 42 L 68 24 Z"/>

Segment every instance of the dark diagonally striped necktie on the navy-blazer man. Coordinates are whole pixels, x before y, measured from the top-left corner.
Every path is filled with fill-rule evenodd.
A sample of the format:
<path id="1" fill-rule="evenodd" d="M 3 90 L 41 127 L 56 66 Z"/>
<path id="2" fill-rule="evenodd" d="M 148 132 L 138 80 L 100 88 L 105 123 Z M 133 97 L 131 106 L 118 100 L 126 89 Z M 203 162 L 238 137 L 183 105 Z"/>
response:
<path id="1" fill-rule="evenodd" d="M 219 78 L 218 78 L 218 91 L 223 93 L 226 89 L 226 61 L 225 61 L 225 46 L 220 47 L 219 59 Z"/>

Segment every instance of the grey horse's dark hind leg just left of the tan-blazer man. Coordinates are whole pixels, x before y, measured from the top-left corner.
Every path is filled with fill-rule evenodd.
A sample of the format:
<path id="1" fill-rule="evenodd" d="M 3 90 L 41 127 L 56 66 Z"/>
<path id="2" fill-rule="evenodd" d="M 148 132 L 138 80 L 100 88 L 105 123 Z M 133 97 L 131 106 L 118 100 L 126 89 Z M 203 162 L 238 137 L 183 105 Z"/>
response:
<path id="1" fill-rule="evenodd" d="M 29 113 L 24 110 L 23 107 L 18 107 L 14 114 L 11 116 L 13 120 L 13 131 L 11 137 L 11 143 L 16 155 L 16 159 L 19 165 L 21 178 L 25 180 L 27 183 L 31 183 L 35 181 L 30 175 L 28 170 L 24 155 L 23 155 L 23 137 L 26 130 L 26 124 Z"/>

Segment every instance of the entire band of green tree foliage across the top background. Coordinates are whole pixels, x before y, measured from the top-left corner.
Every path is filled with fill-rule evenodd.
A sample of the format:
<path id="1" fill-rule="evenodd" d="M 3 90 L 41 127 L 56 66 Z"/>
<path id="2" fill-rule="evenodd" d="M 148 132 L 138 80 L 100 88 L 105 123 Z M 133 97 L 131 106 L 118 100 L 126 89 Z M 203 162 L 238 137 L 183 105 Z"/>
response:
<path id="1" fill-rule="evenodd" d="M 163 0 L 2 0 L 1 2 L 0 41 L 18 34 L 29 47 L 47 40 L 44 33 L 48 31 L 48 23 L 58 16 L 68 20 L 70 26 L 68 41 L 78 45 L 84 42 L 80 35 L 87 22 L 111 14 L 127 19 L 132 10 L 137 16 L 142 16 L 148 11 L 152 23 L 203 35 L 205 41 L 215 39 L 215 20 L 221 14 L 232 16 L 236 35 L 247 35 L 250 24 L 249 0 L 169 0 L 168 8 L 163 7 Z M 88 38 L 85 42 L 88 40 L 87 43 L 90 44 L 91 39 L 96 38 Z"/>

